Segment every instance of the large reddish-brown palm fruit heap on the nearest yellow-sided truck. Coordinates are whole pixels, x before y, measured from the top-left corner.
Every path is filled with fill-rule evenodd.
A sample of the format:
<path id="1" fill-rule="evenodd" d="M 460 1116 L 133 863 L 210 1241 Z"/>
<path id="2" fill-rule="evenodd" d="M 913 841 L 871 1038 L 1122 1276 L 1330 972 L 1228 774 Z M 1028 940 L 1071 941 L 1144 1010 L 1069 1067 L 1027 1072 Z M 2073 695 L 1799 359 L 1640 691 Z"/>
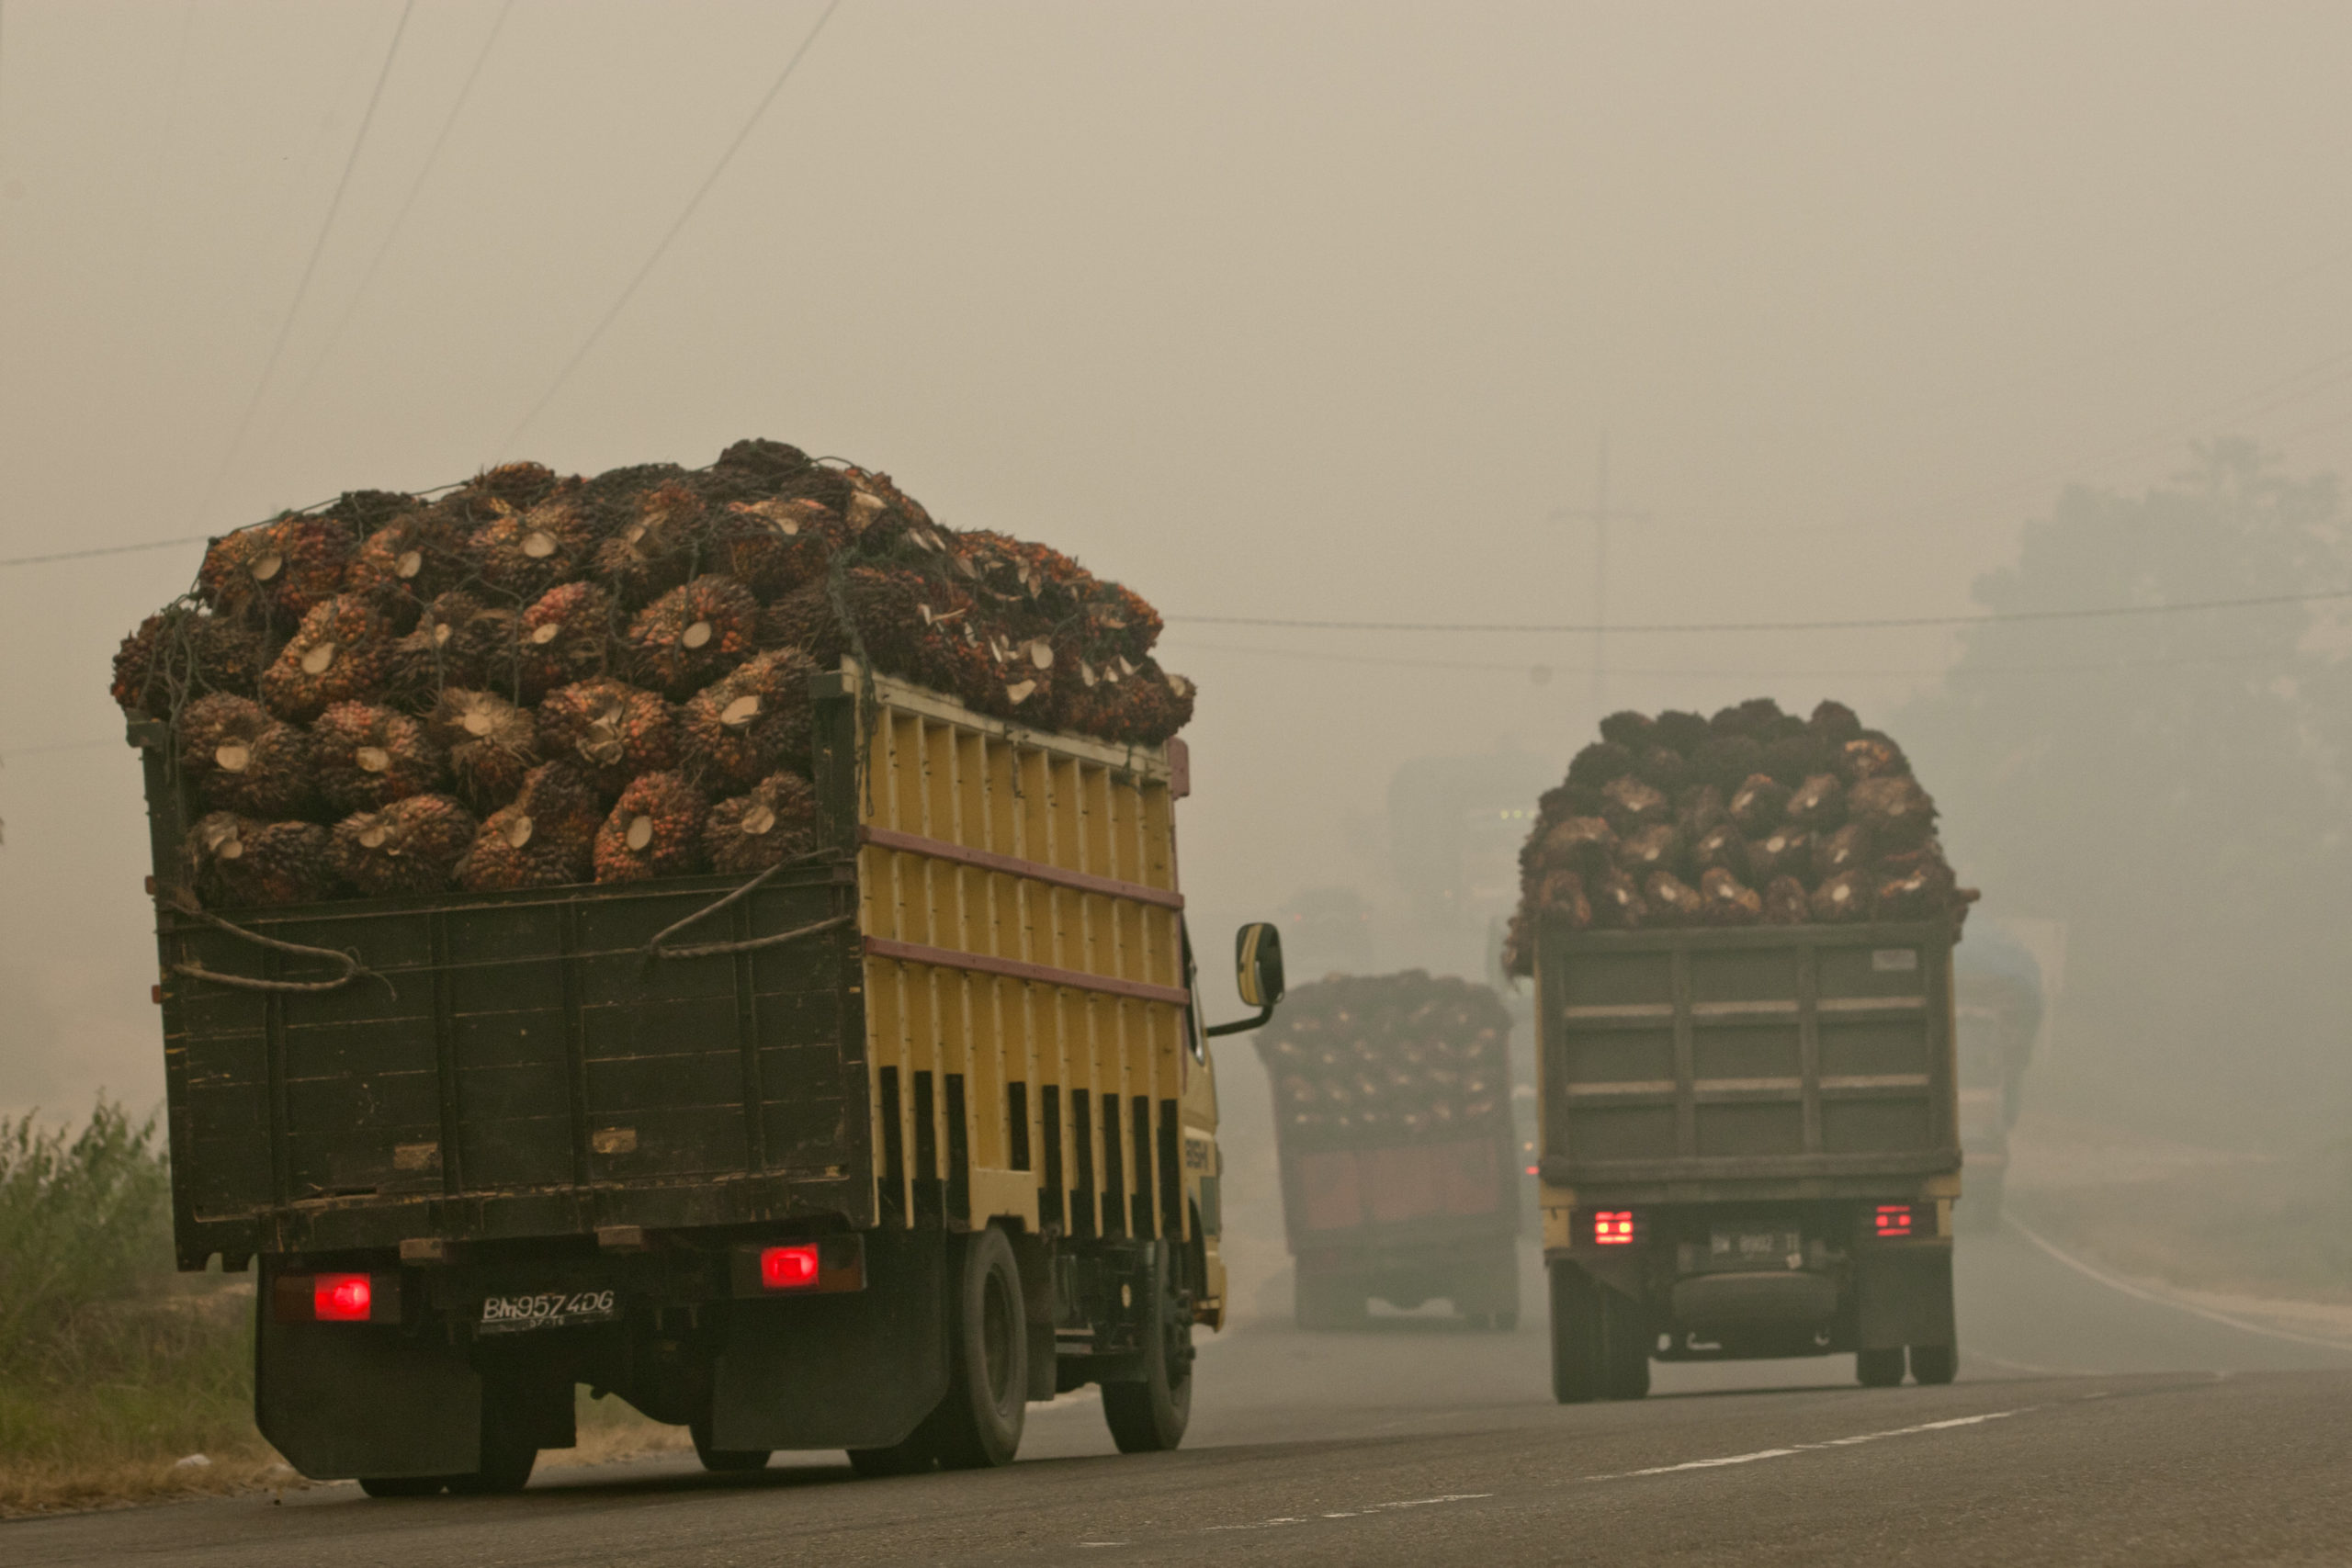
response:
<path id="1" fill-rule="evenodd" d="M 212 541 L 115 656 L 172 726 L 216 905 L 757 872 L 816 849 L 809 682 L 844 656 L 1037 729 L 1157 745 L 1160 616 L 889 475 L 736 442 Z"/>

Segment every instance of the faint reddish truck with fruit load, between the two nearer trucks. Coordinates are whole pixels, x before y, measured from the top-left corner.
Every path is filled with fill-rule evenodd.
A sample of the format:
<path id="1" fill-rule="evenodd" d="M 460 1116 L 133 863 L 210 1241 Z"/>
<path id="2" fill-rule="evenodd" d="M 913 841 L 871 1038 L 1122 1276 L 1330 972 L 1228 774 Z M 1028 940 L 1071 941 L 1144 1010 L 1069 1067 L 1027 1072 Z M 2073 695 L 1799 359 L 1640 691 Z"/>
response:
<path id="1" fill-rule="evenodd" d="M 1301 1328 L 1383 1300 L 1519 1324 L 1510 1013 L 1486 985 L 1327 976 L 1256 1034 L 1275 1091 Z"/>

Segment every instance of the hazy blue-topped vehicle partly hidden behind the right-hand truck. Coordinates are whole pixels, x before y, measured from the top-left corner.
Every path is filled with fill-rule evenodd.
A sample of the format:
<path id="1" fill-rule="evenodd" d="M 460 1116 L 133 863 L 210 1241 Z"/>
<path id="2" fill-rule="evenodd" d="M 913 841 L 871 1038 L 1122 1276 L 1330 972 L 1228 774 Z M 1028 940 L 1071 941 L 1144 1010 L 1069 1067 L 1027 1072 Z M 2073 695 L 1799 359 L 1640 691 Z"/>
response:
<path id="1" fill-rule="evenodd" d="M 2009 1182 L 2009 1133 L 2025 1105 L 2025 1067 L 2044 1023 L 2044 978 L 2034 952 L 1985 922 L 1955 954 L 1959 1027 L 1959 1147 L 1969 1161 L 1969 1197 L 1959 1229 L 2002 1225 Z"/>

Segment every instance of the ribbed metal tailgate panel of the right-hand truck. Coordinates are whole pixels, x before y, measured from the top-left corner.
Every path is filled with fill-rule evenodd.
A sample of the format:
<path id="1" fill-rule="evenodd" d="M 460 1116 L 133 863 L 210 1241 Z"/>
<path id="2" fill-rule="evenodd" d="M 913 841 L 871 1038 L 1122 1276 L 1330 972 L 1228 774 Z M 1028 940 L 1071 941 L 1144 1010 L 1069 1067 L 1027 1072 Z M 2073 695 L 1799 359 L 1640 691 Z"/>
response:
<path id="1" fill-rule="evenodd" d="M 1555 1201 L 1832 1199 L 1959 1171 L 1947 924 L 1541 933 Z M 1573 1199 L 1569 1199 L 1573 1194 Z"/>

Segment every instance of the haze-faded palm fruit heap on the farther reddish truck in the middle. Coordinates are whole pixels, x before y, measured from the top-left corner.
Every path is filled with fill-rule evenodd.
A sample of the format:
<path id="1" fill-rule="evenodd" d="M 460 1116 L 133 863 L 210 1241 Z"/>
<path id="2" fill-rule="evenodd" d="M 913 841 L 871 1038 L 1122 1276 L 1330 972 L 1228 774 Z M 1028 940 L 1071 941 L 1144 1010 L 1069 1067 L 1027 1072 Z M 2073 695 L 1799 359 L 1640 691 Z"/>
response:
<path id="1" fill-rule="evenodd" d="M 1486 985 L 1327 976 L 1258 1030 L 1284 1140 L 1362 1145 L 1484 1131 L 1510 1095 L 1510 1013 Z"/>

